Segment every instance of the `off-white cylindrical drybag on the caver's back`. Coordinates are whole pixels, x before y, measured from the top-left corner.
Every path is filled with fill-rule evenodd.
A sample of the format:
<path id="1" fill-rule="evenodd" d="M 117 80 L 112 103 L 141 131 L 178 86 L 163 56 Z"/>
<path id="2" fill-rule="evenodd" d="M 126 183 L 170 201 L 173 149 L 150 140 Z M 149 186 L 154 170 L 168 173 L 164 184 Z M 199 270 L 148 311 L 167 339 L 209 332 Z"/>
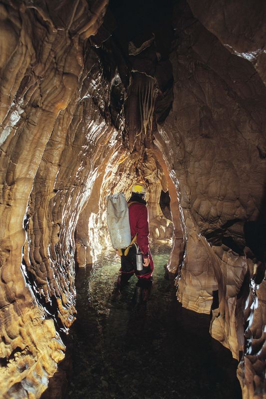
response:
<path id="1" fill-rule="evenodd" d="M 129 207 L 124 193 L 107 196 L 107 225 L 114 248 L 131 243 Z"/>

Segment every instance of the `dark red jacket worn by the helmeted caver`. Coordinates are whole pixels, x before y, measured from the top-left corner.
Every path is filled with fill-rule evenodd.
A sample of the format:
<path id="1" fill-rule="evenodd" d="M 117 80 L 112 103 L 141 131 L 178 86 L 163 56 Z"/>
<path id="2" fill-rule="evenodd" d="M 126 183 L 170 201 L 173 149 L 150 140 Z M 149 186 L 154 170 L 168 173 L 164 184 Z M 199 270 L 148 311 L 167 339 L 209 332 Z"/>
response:
<path id="1" fill-rule="evenodd" d="M 133 201 L 129 201 L 133 202 Z M 149 251 L 149 221 L 148 221 L 148 209 L 143 203 L 134 202 L 129 206 L 129 217 L 130 217 L 130 229 L 131 237 L 137 233 L 136 242 L 137 245 L 144 255 L 148 257 Z"/>

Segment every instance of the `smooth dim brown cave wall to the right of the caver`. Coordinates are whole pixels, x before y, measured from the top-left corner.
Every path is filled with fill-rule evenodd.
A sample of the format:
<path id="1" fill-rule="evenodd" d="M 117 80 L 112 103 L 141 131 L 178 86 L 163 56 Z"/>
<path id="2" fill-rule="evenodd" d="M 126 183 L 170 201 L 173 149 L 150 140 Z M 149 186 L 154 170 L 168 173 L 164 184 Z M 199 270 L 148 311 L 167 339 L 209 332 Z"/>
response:
<path id="1" fill-rule="evenodd" d="M 236 18 L 242 7 L 236 1 L 226 8 L 222 2 L 190 3 L 193 14 L 184 2 L 174 7 L 174 100 L 169 116 L 158 124 L 163 139 L 156 136 L 165 156 L 171 154 L 188 234 L 177 296 L 192 310 L 209 313 L 213 307 L 212 336 L 237 359 L 244 350 L 239 366 L 244 397 L 262 398 L 265 324 L 259 298 L 265 250 L 259 246 L 265 248 L 266 89 L 260 10 L 265 5 L 254 9 L 247 2 L 239 12 L 245 13 L 244 26 L 243 19 Z M 256 18 L 249 23 L 251 8 Z M 241 34 L 252 46 L 242 42 Z M 255 47 L 260 50 L 256 59 L 239 54 Z M 247 233 L 252 225 L 258 245 Z M 213 303 L 212 291 L 217 289 L 219 305 Z M 251 303 L 258 312 L 254 321 Z"/>

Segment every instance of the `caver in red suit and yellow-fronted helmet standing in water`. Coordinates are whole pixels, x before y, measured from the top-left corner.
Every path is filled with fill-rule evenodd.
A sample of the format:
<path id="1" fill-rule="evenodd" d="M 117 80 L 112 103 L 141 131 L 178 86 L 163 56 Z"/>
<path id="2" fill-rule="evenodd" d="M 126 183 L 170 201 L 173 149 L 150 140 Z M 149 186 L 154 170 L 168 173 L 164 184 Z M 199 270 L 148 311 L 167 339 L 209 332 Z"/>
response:
<path id="1" fill-rule="evenodd" d="M 132 242 L 128 248 L 117 251 L 121 256 L 121 269 L 116 289 L 119 292 L 135 274 L 138 281 L 133 304 L 140 304 L 148 299 L 151 290 L 153 260 L 149 251 L 149 223 L 148 209 L 144 200 L 145 188 L 141 183 L 136 183 L 133 184 L 131 191 L 132 195 L 128 205 Z M 142 270 L 137 270 L 136 267 L 137 247 L 142 254 Z"/>

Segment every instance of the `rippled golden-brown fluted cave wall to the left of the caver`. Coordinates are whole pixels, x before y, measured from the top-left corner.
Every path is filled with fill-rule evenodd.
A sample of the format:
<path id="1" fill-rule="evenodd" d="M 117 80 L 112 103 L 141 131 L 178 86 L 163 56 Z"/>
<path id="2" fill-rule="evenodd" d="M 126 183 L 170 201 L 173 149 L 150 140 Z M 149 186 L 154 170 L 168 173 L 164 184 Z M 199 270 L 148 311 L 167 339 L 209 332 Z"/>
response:
<path id="1" fill-rule="evenodd" d="M 64 357 L 59 332 L 74 320 L 75 224 L 114 134 L 110 83 L 86 46 L 105 6 L 1 4 L 4 398 L 40 397 Z"/>

